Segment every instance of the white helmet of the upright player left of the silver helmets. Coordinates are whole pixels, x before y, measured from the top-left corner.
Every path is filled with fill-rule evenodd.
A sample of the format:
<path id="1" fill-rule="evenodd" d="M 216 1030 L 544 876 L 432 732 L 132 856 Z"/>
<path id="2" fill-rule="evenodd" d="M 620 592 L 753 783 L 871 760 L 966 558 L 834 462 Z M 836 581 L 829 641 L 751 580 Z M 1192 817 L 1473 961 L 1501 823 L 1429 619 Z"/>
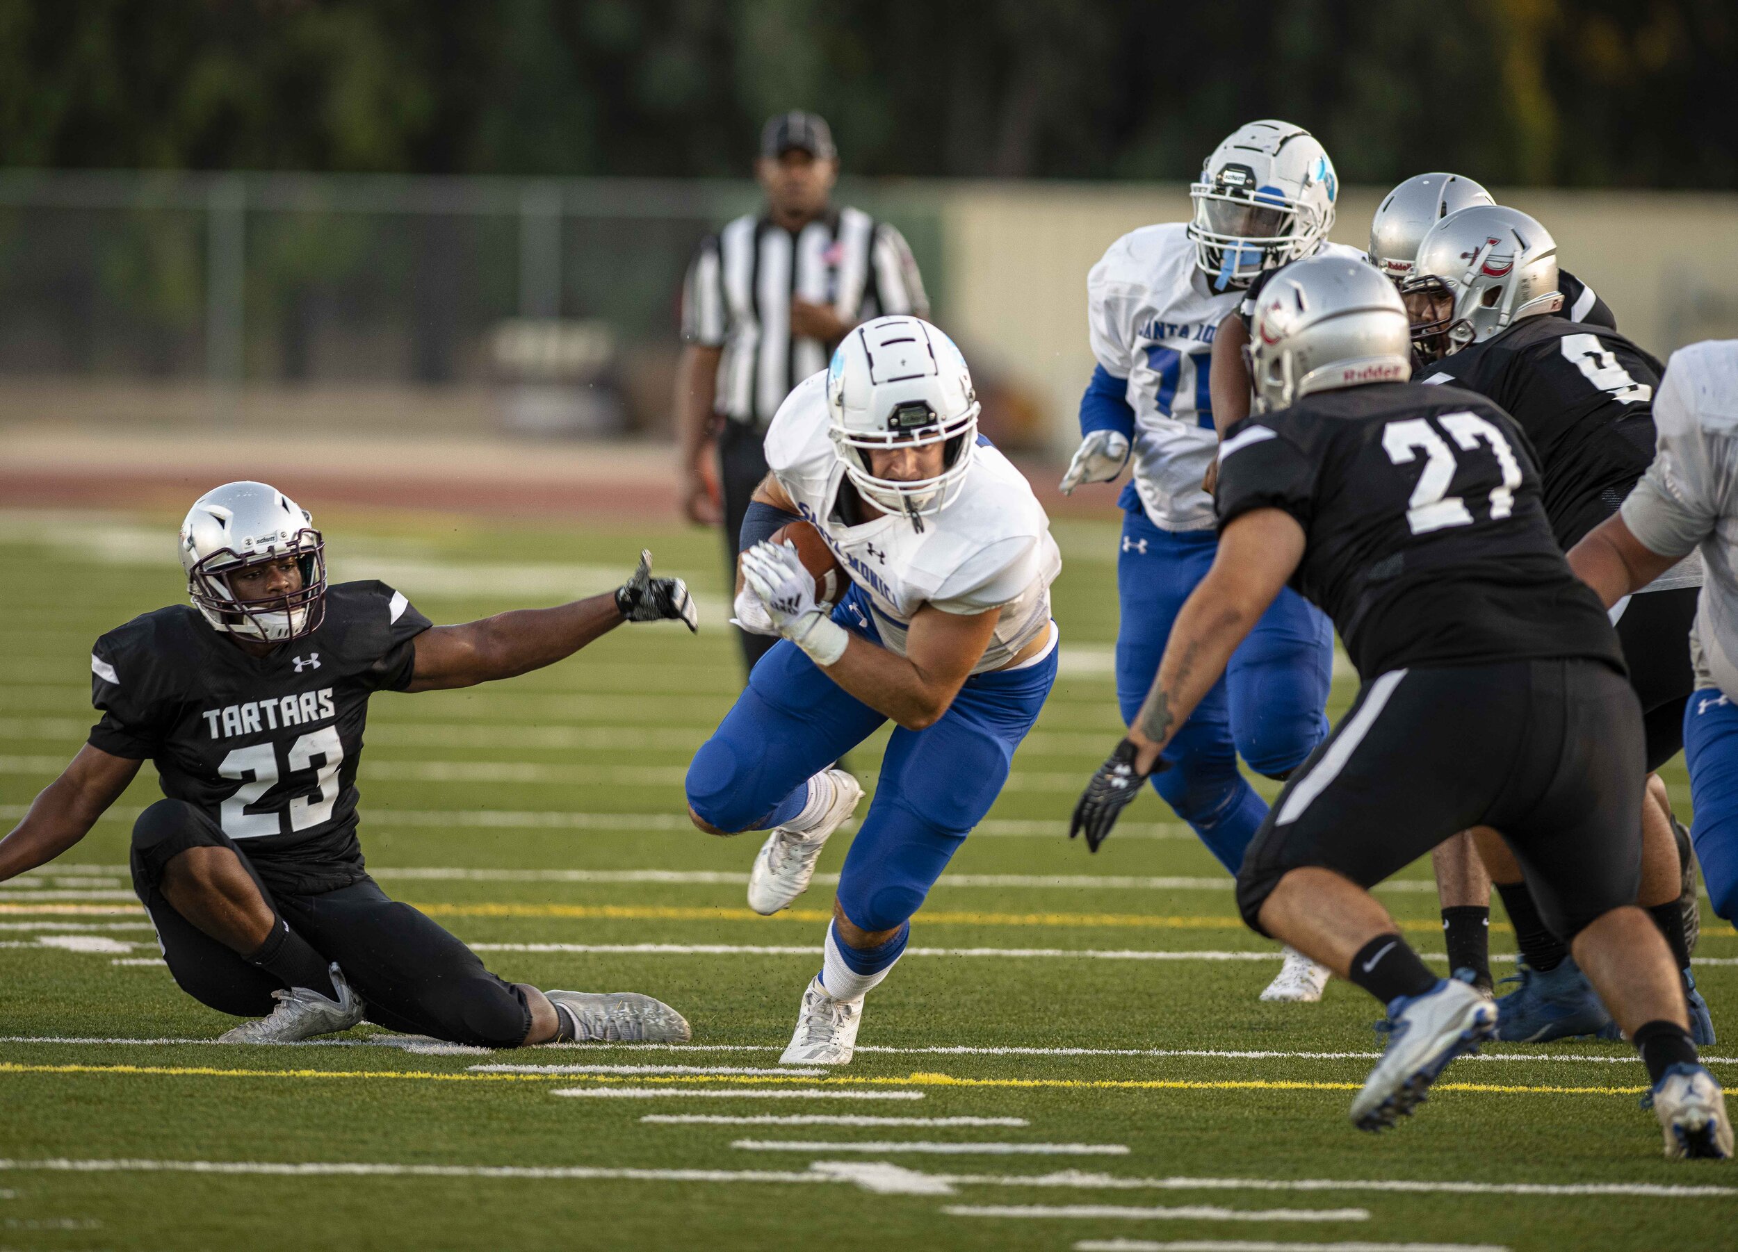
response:
<path id="1" fill-rule="evenodd" d="M 1215 292 L 1307 257 L 1333 227 L 1333 161 L 1290 122 L 1251 122 L 1225 139 L 1189 188 L 1196 266 Z"/>

